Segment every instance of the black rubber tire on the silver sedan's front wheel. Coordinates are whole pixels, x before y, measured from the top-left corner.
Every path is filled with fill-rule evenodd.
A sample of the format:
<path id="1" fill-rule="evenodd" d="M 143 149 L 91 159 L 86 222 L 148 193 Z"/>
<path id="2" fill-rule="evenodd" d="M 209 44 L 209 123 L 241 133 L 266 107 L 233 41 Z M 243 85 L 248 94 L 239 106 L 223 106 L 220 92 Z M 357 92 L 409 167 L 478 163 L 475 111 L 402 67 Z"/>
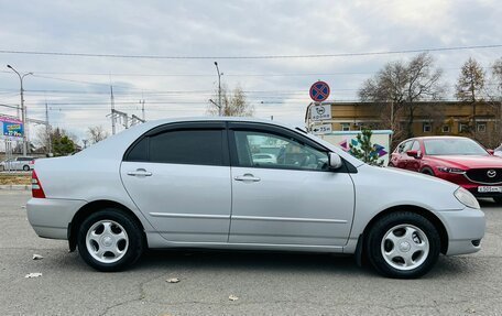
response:
<path id="1" fill-rule="evenodd" d="M 422 233 L 424 233 L 426 238 L 422 236 L 418 237 L 418 240 L 425 242 L 425 244 L 428 243 L 428 253 L 422 250 L 410 250 L 410 244 L 417 244 L 414 243 L 414 240 L 417 237 L 415 235 L 413 237 L 414 240 L 407 240 L 410 241 L 410 243 L 406 243 L 407 241 L 403 242 L 404 250 L 401 249 L 401 246 L 399 246 L 399 251 L 403 250 L 406 252 L 400 252 L 403 253 L 403 257 L 396 255 L 394 258 L 396 259 L 396 261 L 392 262 L 392 264 L 394 264 L 393 266 L 391 265 L 391 263 L 388 262 L 390 259 L 384 258 L 383 252 L 384 250 L 386 250 L 388 242 L 391 243 L 391 249 L 394 246 L 392 244 L 392 241 L 389 241 L 388 239 L 385 239 L 386 241 L 384 243 L 384 238 L 385 236 L 389 236 L 390 231 L 397 231 L 399 229 L 404 229 L 404 227 L 399 228 L 401 226 L 410 227 L 411 231 L 417 228 L 418 230 L 416 230 L 416 232 L 418 233 L 418 236 L 422 236 Z M 397 229 L 393 230 L 395 228 Z M 437 232 L 437 229 L 428 219 L 411 211 L 391 213 L 380 218 L 376 222 L 374 222 L 374 225 L 369 230 L 365 241 L 365 251 L 371 265 L 380 274 L 395 279 L 416 279 L 426 274 L 436 263 L 440 251 L 440 237 Z M 416 266 L 404 266 L 404 255 L 410 255 L 413 259 L 415 254 L 418 254 L 417 258 L 414 259 L 417 261 Z M 396 265 L 401 266 L 396 268 Z"/>

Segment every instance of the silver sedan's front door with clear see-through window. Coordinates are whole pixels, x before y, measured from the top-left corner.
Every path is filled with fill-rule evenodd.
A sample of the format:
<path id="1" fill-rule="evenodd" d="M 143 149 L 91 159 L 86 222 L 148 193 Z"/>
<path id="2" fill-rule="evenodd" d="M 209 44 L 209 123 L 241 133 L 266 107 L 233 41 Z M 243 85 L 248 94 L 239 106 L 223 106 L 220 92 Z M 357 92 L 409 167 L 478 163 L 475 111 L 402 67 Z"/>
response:
<path id="1" fill-rule="evenodd" d="M 354 188 L 345 171 L 327 168 L 327 150 L 287 129 L 230 123 L 232 216 L 230 243 L 347 243 Z M 274 163 L 252 154 L 275 148 Z"/>

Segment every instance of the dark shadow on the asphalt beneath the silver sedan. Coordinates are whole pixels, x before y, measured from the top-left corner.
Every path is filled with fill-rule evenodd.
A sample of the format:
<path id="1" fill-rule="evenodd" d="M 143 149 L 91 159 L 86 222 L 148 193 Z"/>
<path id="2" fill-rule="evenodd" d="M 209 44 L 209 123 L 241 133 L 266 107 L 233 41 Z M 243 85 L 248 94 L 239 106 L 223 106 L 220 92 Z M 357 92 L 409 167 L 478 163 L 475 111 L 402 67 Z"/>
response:
<path id="1" fill-rule="evenodd" d="M 53 260 L 51 260 L 53 259 Z M 455 279 L 459 275 L 474 275 L 483 269 L 477 264 L 476 257 L 446 257 L 440 255 L 433 270 L 421 280 Z M 44 260 L 52 266 L 59 266 L 59 271 L 96 272 L 78 255 L 54 253 Z M 272 251 L 221 251 L 221 250 L 149 250 L 131 268 L 129 273 L 154 273 L 166 271 L 207 271 L 229 273 L 301 273 L 309 275 L 330 275 L 332 277 L 368 277 L 381 279 L 368 262 L 362 266 L 356 263 L 352 255 L 330 253 L 304 252 L 272 252 Z"/>

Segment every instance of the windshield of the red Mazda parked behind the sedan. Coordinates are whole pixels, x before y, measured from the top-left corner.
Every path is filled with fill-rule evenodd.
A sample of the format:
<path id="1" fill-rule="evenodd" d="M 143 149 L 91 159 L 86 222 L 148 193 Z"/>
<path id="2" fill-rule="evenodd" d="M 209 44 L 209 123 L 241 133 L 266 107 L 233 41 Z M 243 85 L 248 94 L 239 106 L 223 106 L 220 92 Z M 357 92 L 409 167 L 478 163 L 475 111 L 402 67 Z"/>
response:
<path id="1" fill-rule="evenodd" d="M 489 155 L 477 142 L 470 139 L 433 139 L 424 140 L 428 155 Z"/>

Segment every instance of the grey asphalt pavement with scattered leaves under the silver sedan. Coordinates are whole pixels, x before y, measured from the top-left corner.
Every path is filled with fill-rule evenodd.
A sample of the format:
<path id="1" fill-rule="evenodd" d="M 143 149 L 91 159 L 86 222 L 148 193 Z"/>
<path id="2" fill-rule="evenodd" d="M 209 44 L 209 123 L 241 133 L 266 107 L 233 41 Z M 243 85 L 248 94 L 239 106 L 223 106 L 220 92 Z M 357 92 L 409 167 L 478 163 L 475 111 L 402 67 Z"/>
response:
<path id="1" fill-rule="evenodd" d="M 270 252 L 155 251 L 129 271 L 96 272 L 66 241 L 34 233 L 29 198 L 0 190 L 0 315 L 502 315 L 502 207 L 491 200 L 480 252 L 441 255 L 405 281 L 351 257 Z"/>

